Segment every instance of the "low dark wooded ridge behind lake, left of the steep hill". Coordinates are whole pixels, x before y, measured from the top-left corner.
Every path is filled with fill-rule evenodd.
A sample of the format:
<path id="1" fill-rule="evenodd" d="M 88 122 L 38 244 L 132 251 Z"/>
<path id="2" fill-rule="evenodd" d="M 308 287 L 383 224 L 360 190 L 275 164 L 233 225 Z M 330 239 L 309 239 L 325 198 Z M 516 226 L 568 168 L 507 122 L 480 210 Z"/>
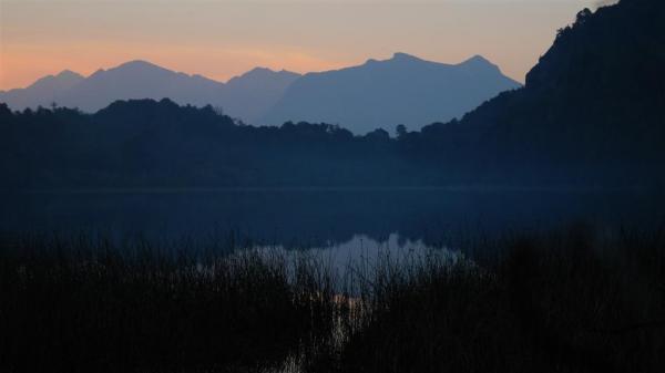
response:
<path id="1" fill-rule="evenodd" d="M 0 106 L 6 186 L 320 186 L 411 184 L 383 131 L 255 127 L 211 106 L 116 102 L 95 113 Z"/>

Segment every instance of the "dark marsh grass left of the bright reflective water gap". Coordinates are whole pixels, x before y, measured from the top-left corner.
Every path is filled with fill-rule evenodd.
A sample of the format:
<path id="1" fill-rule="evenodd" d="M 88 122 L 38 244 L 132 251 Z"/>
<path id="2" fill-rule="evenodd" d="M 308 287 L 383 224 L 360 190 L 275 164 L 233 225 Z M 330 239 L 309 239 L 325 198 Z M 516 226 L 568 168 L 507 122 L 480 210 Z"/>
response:
<path id="1" fill-rule="evenodd" d="M 278 255 L 39 237 L 0 257 L 3 371 L 256 370 L 329 333 L 305 259 L 289 279 Z"/>

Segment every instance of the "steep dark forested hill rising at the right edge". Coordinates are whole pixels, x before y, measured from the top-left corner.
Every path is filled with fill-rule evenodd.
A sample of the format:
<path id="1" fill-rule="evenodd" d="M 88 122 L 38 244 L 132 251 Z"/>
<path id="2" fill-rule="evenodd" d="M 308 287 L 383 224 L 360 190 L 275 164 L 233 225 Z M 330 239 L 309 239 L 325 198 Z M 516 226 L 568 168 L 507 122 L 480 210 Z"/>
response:
<path id="1" fill-rule="evenodd" d="M 423 128 L 412 136 L 415 147 L 462 168 L 472 163 L 487 178 L 656 178 L 665 164 L 664 51 L 665 2 L 583 10 L 559 31 L 523 89 L 459 123 Z"/>

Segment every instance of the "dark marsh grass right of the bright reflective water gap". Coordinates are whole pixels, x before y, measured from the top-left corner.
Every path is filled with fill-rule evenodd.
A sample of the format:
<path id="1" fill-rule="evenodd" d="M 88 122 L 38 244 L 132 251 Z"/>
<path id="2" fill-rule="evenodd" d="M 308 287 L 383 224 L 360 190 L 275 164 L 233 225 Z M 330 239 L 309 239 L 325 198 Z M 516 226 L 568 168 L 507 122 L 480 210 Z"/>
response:
<path id="1" fill-rule="evenodd" d="M 663 232 L 575 226 L 479 240 L 473 261 L 387 258 L 352 281 L 368 312 L 311 371 L 661 372 Z"/>

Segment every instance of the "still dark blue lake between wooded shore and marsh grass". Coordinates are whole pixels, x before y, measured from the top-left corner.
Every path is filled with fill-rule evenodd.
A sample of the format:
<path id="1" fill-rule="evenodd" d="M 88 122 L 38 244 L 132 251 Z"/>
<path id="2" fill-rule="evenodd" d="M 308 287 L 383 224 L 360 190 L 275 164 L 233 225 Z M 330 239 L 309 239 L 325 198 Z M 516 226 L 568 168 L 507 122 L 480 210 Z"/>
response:
<path id="1" fill-rule="evenodd" d="M 656 197 L 656 195 L 658 197 Z M 284 248 L 407 242 L 454 235 L 659 224 L 664 200 L 644 190 L 287 188 L 41 190 L 0 195 L 0 231 L 229 238 Z M 361 237 L 362 239 L 359 239 Z"/>

